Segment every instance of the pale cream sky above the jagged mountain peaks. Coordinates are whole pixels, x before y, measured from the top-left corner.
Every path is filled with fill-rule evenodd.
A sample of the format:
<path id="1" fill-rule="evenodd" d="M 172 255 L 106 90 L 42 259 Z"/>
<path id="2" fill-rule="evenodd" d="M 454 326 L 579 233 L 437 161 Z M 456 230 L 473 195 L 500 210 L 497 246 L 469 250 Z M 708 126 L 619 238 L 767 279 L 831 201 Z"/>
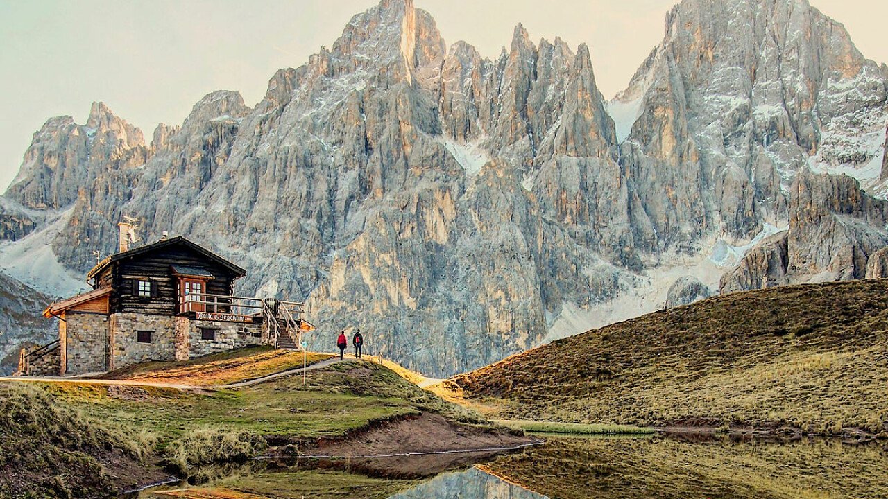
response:
<path id="1" fill-rule="evenodd" d="M 589 44 L 607 98 L 629 83 L 663 36 L 677 0 L 415 0 L 445 41 L 490 58 L 523 23 L 536 42 Z M 375 0 L 0 0 L 0 191 L 47 118 L 84 123 L 93 100 L 150 141 L 157 123 L 181 124 L 210 91 L 240 91 L 248 106 L 281 67 L 330 46 Z M 884 0 L 812 0 L 843 22 L 869 59 L 888 62 Z"/>

